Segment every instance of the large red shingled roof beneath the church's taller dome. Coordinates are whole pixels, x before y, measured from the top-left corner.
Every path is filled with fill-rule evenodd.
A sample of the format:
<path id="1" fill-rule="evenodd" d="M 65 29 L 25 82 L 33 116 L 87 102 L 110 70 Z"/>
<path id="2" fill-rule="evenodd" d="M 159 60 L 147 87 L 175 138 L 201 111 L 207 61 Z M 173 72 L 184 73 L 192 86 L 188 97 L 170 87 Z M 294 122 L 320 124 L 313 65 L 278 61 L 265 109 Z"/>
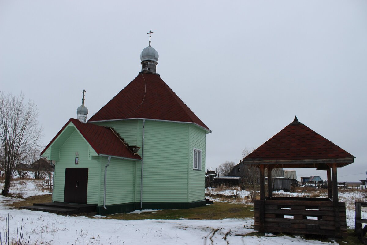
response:
<path id="1" fill-rule="evenodd" d="M 159 75 L 151 73 L 139 73 L 88 121 L 128 118 L 192 122 L 209 130 Z"/>

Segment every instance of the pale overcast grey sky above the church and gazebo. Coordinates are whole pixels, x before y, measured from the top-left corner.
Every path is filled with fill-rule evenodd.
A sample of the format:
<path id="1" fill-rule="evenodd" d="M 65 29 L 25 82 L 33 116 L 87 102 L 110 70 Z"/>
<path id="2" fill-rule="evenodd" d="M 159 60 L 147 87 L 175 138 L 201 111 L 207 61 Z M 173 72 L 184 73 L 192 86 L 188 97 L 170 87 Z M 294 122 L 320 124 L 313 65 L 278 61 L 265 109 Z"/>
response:
<path id="1" fill-rule="evenodd" d="M 37 105 L 46 145 L 83 89 L 90 118 L 137 76 L 149 30 L 157 73 L 212 130 L 206 169 L 297 115 L 356 157 L 339 181 L 366 178 L 365 0 L 0 0 L 0 90 Z"/>

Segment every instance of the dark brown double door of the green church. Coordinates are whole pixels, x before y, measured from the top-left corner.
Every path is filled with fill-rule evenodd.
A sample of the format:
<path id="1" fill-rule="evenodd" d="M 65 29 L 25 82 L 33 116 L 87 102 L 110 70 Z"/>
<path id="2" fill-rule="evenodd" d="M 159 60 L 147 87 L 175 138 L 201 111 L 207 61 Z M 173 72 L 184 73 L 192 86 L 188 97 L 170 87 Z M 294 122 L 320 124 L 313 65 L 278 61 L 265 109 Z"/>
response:
<path id="1" fill-rule="evenodd" d="M 88 169 L 66 168 L 64 202 L 87 203 Z"/>

